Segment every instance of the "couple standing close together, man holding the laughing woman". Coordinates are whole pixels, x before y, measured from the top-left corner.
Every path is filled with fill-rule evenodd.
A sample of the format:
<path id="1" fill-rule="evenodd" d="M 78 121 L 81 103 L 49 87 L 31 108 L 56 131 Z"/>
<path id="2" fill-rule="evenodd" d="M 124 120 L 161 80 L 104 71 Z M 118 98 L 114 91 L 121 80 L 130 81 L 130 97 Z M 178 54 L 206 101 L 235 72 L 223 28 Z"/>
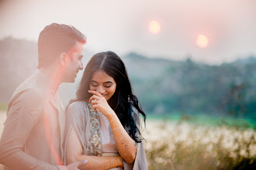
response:
<path id="1" fill-rule="evenodd" d="M 5 169 L 147 169 L 140 114 L 126 67 L 113 52 L 85 67 L 66 108 L 57 89 L 83 69 L 85 36 L 53 23 L 38 39 L 38 69 L 12 94 L 0 140 Z"/>

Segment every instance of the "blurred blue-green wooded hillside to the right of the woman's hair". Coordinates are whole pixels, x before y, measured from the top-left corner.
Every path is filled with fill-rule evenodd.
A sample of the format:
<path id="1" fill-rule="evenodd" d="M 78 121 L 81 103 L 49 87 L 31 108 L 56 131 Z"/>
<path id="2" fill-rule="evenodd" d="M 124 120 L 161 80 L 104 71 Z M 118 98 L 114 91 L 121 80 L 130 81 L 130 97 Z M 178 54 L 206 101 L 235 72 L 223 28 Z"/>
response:
<path id="1" fill-rule="evenodd" d="M 142 67 L 142 62 L 145 65 L 150 59 L 134 60 L 130 70 L 136 70 L 134 65 Z M 157 115 L 215 113 L 256 119 L 256 59 L 253 56 L 220 66 L 195 63 L 191 59 L 185 62 L 166 60 L 166 63 L 160 66 L 160 62 L 155 61 L 155 68 L 150 67 L 150 71 L 158 74 L 150 80 L 130 72 L 131 80 L 140 79 L 134 89 L 146 112 Z M 144 68 L 144 72 L 147 70 Z"/>

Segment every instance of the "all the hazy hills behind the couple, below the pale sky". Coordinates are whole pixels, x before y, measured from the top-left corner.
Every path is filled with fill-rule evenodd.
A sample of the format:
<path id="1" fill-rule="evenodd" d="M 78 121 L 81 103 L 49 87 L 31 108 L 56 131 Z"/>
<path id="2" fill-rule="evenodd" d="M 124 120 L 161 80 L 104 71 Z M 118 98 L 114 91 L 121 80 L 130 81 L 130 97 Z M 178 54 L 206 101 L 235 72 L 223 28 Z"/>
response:
<path id="1" fill-rule="evenodd" d="M 36 42 L 6 38 L 0 41 L 0 102 L 8 103 L 19 83 L 37 66 Z M 84 63 L 93 53 L 85 49 Z M 256 59 L 248 56 L 234 63 L 209 66 L 191 59 L 173 61 L 148 58 L 137 53 L 121 56 L 133 90 L 149 114 L 225 114 L 255 118 Z M 64 102 L 74 97 L 82 72 L 75 83 L 64 83 Z"/>

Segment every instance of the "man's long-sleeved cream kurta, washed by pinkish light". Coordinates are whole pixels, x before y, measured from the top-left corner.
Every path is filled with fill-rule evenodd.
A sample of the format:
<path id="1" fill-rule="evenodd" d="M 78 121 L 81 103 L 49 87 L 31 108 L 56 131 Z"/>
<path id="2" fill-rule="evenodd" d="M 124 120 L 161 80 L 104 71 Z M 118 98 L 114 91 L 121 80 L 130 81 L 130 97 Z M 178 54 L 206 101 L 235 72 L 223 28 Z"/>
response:
<path id="1" fill-rule="evenodd" d="M 54 169 L 63 160 L 64 107 L 40 70 L 12 95 L 0 141 L 5 169 Z"/>

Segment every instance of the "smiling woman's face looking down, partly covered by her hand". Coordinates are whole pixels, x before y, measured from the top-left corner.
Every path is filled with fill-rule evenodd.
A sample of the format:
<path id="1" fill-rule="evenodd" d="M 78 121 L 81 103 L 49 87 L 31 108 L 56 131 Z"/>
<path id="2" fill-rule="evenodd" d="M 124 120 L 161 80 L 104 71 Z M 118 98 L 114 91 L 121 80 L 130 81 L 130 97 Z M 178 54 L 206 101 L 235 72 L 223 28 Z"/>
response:
<path id="1" fill-rule="evenodd" d="M 90 90 L 98 91 L 109 100 L 116 91 L 116 81 L 105 71 L 99 70 L 92 74 Z"/>

